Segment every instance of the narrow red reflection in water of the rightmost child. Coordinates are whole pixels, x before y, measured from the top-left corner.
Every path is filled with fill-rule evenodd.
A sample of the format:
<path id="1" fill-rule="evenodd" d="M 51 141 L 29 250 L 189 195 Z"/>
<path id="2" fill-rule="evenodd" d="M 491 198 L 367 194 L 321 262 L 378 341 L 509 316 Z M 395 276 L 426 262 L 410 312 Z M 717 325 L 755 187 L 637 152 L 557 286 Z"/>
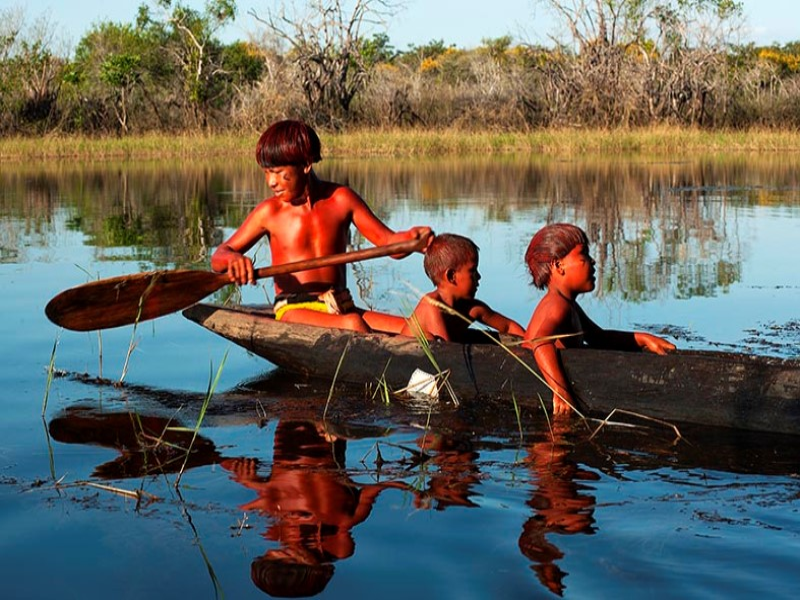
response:
<path id="1" fill-rule="evenodd" d="M 563 580 L 567 574 L 556 561 L 564 553 L 547 536 L 594 533 L 595 498 L 586 493 L 591 488 L 581 482 L 599 479 L 596 473 L 580 468 L 569 458 L 565 433 L 565 425 L 556 420 L 553 437 L 528 448 L 526 462 L 535 477 L 528 505 L 534 515 L 525 522 L 519 537 L 519 549 L 533 561 L 531 568 L 539 581 L 559 596 L 566 588 Z"/>

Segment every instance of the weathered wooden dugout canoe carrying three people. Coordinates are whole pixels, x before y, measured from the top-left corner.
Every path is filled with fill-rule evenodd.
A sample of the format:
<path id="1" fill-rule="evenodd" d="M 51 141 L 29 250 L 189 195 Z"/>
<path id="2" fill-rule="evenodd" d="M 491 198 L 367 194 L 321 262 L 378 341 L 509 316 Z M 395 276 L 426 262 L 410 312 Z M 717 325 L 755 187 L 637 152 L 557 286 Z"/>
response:
<path id="1" fill-rule="evenodd" d="M 183 315 L 272 364 L 346 383 L 385 381 L 405 388 L 412 373 L 435 373 L 414 338 L 275 321 L 269 309 L 200 303 Z M 483 338 L 485 336 L 481 336 Z M 432 354 L 464 402 L 551 405 L 530 351 L 518 346 L 433 342 Z M 565 370 L 587 416 L 630 411 L 671 423 L 694 423 L 800 435 L 800 361 L 728 352 L 569 349 Z M 338 372 L 337 372 L 338 370 Z M 538 371 L 537 371 L 538 372 Z M 446 395 L 444 397 L 446 398 Z"/>

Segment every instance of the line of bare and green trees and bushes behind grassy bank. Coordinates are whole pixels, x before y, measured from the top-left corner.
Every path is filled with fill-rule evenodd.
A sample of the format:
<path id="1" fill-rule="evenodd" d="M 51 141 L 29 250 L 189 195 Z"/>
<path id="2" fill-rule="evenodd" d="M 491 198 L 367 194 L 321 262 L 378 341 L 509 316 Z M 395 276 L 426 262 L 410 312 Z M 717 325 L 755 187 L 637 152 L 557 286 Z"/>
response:
<path id="1" fill-rule="evenodd" d="M 800 126 L 800 42 L 737 42 L 734 0 L 539 0 L 561 38 L 396 49 L 391 0 L 309 0 L 249 16 L 235 0 L 142 4 L 59 51 L 56 25 L 0 9 L 0 135 L 126 136 L 318 127 Z"/>

